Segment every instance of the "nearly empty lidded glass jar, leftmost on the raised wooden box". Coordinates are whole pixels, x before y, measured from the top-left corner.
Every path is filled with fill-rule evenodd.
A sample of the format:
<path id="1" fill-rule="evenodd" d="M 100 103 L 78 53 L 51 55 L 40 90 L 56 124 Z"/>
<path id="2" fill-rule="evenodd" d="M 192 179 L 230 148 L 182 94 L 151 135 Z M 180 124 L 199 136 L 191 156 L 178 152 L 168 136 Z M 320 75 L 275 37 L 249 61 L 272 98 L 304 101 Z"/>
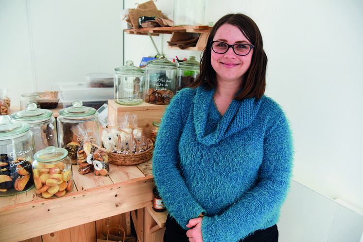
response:
<path id="1" fill-rule="evenodd" d="M 127 61 L 115 68 L 115 102 L 122 105 L 138 105 L 144 99 L 145 70 Z"/>

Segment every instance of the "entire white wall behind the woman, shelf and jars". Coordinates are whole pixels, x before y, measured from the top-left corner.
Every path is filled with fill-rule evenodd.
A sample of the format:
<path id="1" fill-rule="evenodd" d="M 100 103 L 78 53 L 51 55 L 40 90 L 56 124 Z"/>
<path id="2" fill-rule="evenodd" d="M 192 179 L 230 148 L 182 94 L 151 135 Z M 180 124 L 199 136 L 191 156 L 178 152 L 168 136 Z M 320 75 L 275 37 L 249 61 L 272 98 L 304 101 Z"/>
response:
<path id="1" fill-rule="evenodd" d="M 125 0 L 125 7 L 135 2 Z M 171 2 L 156 6 L 168 16 Z M 148 36 L 124 34 L 122 59 L 121 9 L 121 0 L 0 0 L 1 86 L 16 100 L 58 81 L 112 72 L 123 59 L 138 65 L 154 56 Z M 294 131 L 294 178 L 362 209 L 363 1 L 207 0 L 205 22 L 229 12 L 251 16 L 262 32 L 266 94 Z M 168 50 L 169 38 L 154 38 L 167 57 L 199 59 L 196 51 Z"/>

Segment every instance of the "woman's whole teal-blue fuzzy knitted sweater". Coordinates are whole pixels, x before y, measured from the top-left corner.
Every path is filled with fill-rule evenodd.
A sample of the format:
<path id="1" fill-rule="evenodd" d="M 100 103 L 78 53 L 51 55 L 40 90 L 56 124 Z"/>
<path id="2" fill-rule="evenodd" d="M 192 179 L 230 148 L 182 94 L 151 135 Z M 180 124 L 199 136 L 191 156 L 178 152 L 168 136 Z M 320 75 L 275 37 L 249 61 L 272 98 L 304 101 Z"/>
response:
<path id="1" fill-rule="evenodd" d="M 204 242 L 234 242 L 278 222 L 293 142 L 271 98 L 233 100 L 222 117 L 213 93 L 186 88 L 173 97 L 157 133 L 153 175 L 181 226 L 203 212 Z"/>

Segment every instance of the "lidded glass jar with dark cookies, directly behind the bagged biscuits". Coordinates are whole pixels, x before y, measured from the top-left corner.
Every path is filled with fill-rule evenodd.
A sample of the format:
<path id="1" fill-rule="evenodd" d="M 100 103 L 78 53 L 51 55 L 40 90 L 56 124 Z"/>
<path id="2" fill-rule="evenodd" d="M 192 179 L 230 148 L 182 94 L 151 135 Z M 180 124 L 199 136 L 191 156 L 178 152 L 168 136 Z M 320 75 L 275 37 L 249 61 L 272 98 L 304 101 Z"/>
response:
<path id="1" fill-rule="evenodd" d="M 78 147 L 83 140 L 101 146 L 96 109 L 74 101 L 71 107 L 59 110 L 57 134 L 58 147 L 67 149 L 72 164 L 77 164 Z"/>

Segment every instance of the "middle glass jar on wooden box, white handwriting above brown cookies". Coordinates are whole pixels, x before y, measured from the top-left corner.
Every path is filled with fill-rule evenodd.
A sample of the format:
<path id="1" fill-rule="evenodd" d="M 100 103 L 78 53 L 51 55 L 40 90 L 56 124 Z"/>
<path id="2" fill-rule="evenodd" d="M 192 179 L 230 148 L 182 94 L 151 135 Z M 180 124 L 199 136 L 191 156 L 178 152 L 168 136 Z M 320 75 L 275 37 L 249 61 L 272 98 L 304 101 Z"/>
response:
<path id="1" fill-rule="evenodd" d="M 164 56 L 148 61 L 146 65 L 147 88 L 145 102 L 169 104 L 175 94 L 176 66 Z"/>

